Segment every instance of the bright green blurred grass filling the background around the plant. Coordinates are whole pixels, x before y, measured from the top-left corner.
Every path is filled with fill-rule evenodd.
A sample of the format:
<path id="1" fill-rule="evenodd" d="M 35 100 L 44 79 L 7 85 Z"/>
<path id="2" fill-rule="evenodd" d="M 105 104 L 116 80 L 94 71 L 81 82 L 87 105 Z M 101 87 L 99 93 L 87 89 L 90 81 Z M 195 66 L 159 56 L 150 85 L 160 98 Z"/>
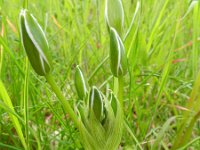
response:
<path id="1" fill-rule="evenodd" d="M 136 0 L 123 0 L 125 33 L 136 10 Z M 2 79 L 33 149 L 81 149 L 78 131 L 57 98 L 27 63 L 19 39 L 22 0 L 0 0 Z M 79 64 L 90 85 L 106 93 L 113 80 L 109 61 L 109 34 L 100 0 L 31 0 L 28 8 L 44 29 L 53 58 L 53 75 L 74 107 L 77 94 L 74 68 Z M 187 13 L 188 12 L 188 13 Z M 186 15 L 186 16 L 185 16 Z M 126 128 L 124 149 L 151 149 L 164 123 L 182 115 L 199 70 L 200 10 L 188 0 L 141 0 L 130 33 L 124 40 L 129 59 L 125 77 Z M 3 26 L 3 27 L 2 27 Z M 124 35 L 125 37 L 125 35 Z M 100 68 L 97 67 L 100 65 Z M 1 99 L 0 99 L 0 102 Z M 0 149 L 22 149 L 8 109 L 0 108 Z M 26 114 L 26 115 L 25 115 Z M 177 120 L 178 122 L 179 120 Z M 176 123 L 168 125 L 159 148 L 173 143 Z M 200 123 L 192 132 L 200 135 Z M 188 141 L 189 142 L 189 141 Z M 14 145 L 14 146 L 13 146 Z M 136 148 L 137 147 L 137 148 Z M 190 146 L 200 148 L 200 141 Z"/>

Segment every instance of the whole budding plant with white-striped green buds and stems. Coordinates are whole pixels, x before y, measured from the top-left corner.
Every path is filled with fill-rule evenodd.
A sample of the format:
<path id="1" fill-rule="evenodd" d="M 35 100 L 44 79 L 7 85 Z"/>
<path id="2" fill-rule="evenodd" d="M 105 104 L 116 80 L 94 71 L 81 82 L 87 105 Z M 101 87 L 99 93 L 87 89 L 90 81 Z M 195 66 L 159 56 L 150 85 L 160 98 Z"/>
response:
<path id="1" fill-rule="evenodd" d="M 117 14 L 113 15 L 113 11 Z M 121 0 L 106 1 L 105 18 L 110 33 L 110 68 L 118 88 L 106 97 L 97 87 L 88 86 L 77 66 L 74 82 L 81 104 L 75 113 L 51 74 L 53 64 L 48 55 L 49 45 L 45 33 L 28 10 L 23 9 L 20 13 L 21 42 L 31 66 L 38 75 L 46 78 L 64 111 L 78 128 L 83 147 L 87 150 L 116 150 L 123 131 L 123 76 L 127 73 L 127 58 L 121 40 L 124 24 Z"/>

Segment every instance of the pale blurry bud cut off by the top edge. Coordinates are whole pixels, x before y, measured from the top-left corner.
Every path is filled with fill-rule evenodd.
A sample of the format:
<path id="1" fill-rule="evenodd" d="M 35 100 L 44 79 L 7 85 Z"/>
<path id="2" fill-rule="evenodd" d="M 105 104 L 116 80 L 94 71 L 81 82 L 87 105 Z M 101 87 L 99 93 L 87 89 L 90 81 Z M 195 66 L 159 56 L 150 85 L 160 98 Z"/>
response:
<path id="1" fill-rule="evenodd" d="M 109 28 L 121 35 L 124 26 L 124 10 L 121 0 L 106 0 L 105 18 Z"/>

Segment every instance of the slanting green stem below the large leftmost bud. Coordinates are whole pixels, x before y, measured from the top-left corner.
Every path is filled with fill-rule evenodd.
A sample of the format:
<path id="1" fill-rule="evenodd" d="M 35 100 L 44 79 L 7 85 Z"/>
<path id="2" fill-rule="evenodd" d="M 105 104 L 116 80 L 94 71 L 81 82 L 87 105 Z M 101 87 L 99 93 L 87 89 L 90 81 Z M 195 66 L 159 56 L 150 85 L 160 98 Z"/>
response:
<path id="1" fill-rule="evenodd" d="M 56 85 L 53 79 L 53 76 L 51 74 L 47 74 L 45 77 L 46 77 L 47 82 L 50 84 L 52 90 L 54 91 L 54 93 L 56 94 L 60 102 L 62 103 L 62 106 L 64 107 L 64 111 L 69 114 L 71 119 L 74 121 L 75 125 L 79 128 L 80 122 L 76 114 L 74 113 L 73 109 L 71 108 L 69 102 L 65 99 L 60 89 Z"/>

